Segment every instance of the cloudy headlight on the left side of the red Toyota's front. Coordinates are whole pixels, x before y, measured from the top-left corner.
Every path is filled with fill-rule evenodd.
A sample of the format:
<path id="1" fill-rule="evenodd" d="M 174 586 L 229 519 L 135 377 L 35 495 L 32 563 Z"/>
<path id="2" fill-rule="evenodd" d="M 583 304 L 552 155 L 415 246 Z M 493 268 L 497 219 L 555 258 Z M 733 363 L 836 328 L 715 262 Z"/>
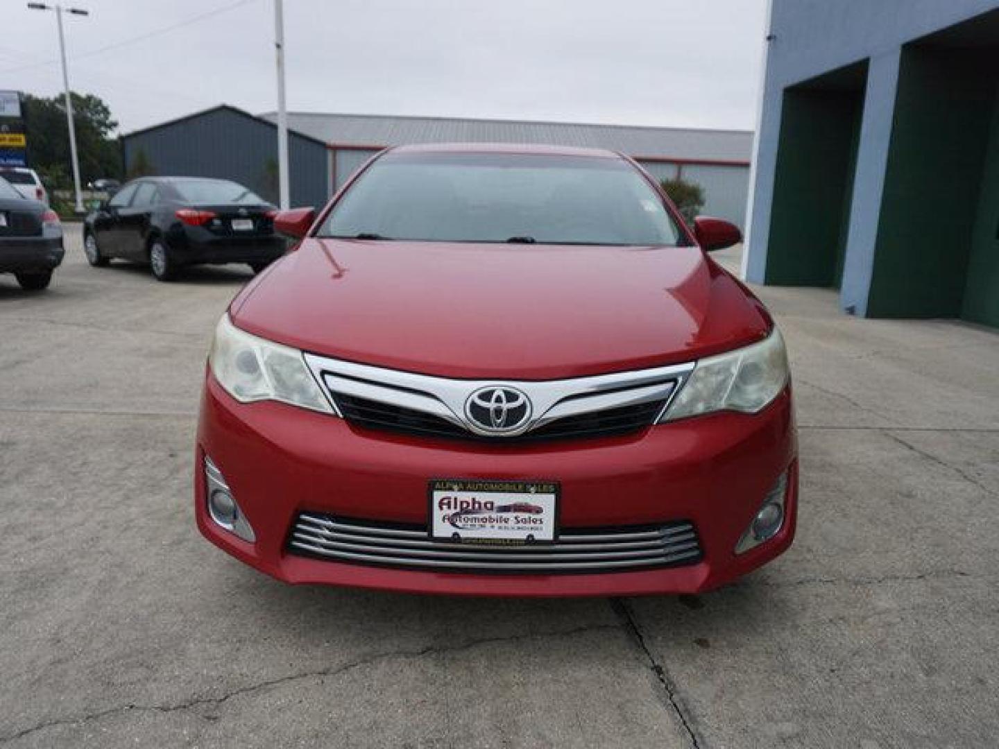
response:
<path id="1" fill-rule="evenodd" d="M 230 395 L 244 403 L 281 400 L 334 413 L 302 352 L 251 336 L 223 315 L 215 329 L 209 366 Z"/>

